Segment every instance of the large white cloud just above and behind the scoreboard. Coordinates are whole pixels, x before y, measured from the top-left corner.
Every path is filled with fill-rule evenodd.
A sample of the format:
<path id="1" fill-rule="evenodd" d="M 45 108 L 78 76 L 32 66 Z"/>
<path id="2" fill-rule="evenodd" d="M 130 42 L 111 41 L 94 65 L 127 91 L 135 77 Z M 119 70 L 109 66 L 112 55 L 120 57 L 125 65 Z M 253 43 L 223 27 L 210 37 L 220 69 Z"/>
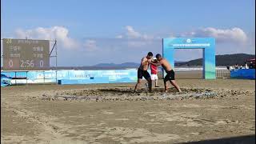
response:
<path id="1" fill-rule="evenodd" d="M 74 49 L 79 46 L 73 38 L 68 36 L 69 30 L 63 26 L 53 26 L 50 28 L 38 27 L 31 30 L 18 29 L 15 31 L 17 38 L 57 40 L 58 44 L 64 48 Z"/>

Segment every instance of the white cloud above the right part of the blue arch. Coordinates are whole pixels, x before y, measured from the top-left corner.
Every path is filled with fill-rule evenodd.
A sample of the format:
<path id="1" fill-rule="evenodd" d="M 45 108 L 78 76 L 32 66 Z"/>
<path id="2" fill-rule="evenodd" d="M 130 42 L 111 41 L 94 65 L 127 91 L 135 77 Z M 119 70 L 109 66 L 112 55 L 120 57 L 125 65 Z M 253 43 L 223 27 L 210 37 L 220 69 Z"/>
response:
<path id="1" fill-rule="evenodd" d="M 238 28 L 232 29 L 216 29 L 214 27 L 206 27 L 189 33 L 181 34 L 182 37 L 213 37 L 217 42 L 236 42 L 244 44 L 248 38 L 246 33 Z"/>

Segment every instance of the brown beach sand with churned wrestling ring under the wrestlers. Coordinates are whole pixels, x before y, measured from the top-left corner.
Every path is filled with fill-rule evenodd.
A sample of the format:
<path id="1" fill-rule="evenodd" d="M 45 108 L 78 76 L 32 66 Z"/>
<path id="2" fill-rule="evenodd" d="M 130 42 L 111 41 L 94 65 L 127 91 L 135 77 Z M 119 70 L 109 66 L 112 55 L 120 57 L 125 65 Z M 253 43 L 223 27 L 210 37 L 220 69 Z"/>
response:
<path id="1" fill-rule="evenodd" d="M 255 81 L 1 88 L 1 143 L 179 143 L 255 134 Z M 144 86 L 144 85 L 143 85 Z"/>

